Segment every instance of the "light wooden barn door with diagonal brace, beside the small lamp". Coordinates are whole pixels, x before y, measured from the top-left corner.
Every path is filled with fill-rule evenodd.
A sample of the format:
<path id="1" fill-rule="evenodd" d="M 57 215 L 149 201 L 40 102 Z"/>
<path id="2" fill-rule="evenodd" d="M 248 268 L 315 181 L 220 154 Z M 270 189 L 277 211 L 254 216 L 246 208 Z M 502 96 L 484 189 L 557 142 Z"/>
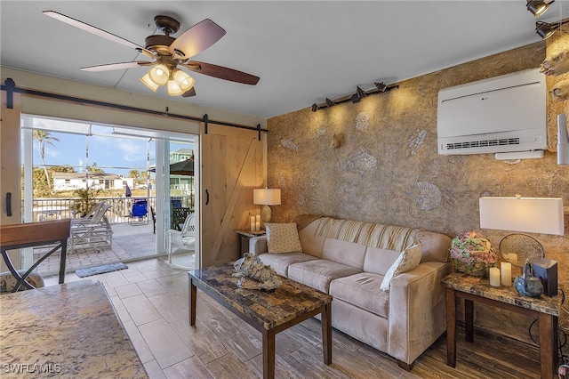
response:
<path id="1" fill-rule="evenodd" d="M 202 125 L 201 265 L 237 259 L 236 229 L 258 213 L 252 189 L 263 183 L 263 149 L 258 133 L 221 125 Z"/>

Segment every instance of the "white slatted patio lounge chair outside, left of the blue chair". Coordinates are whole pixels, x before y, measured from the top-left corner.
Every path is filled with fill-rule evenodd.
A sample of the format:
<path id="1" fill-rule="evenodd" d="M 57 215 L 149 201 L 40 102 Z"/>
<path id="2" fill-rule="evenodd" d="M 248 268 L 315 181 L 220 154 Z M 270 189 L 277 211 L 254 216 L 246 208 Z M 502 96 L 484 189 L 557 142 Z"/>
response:
<path id="1" fill-rule="evenodd" d="M 71 220 L 68 251 L 92 247 L 99 252 L 100 247 L 112 245 L 113 230 L 105 216 L 110 207 L 104 204 L 90 218 Z"/>

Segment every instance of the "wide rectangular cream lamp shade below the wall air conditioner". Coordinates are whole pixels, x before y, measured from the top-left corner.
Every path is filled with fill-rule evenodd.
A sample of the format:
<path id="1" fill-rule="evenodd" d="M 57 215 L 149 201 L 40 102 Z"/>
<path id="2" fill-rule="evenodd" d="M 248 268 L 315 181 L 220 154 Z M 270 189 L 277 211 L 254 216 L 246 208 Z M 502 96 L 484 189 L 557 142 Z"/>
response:
<path id="1" fill-rule="evenodd" d="M 563 236 L 561 198 L 480 198 L 480 228 Z"/>

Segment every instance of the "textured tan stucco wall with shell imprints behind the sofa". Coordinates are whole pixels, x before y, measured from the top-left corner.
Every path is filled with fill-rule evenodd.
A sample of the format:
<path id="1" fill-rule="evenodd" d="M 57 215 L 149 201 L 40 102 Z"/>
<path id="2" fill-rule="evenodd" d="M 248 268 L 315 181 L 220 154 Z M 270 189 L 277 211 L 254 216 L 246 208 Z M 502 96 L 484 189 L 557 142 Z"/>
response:
<path id="1" fill-rule="evenodd" d="M 548 51 L 554 42 L 547 43 Z M 283 198 L 281 206 L 272 207 L 273 220 L 325 214 L 453 237 L 463 230 L 480 230 L 481 196 L 561 197 L 569 206 L 569 166 L 557 165 L 555 153 L 556 115 L 569 114 L 568 101 L 549 99 L 550 151 L 542 159 L 503 162 L 490 154 L 437 154 L 439 90 L 536 68 L 545 57 L 545 42 L 530 44 L 407 80 L 398 89 L 356 104 L 317 112 L 301 109 L 269 119 L 268 186 L 282 189 Z M 548 88 L 568 77 L 548 77 Z M 338 148 L 333 147 L 334 135 Z M 564 237 L 533 237 L 559 262 L 560 282 L 569 288 L 569 220 L 565 224 Z M 507 234 L 483 232 L 496 247 Z M 525 317 L 477 309 L 475 318 L 477 327 L 529 340 L 531 320 Z M 567 315 L 564 318 L 561 323 L 567 327 Z"/>

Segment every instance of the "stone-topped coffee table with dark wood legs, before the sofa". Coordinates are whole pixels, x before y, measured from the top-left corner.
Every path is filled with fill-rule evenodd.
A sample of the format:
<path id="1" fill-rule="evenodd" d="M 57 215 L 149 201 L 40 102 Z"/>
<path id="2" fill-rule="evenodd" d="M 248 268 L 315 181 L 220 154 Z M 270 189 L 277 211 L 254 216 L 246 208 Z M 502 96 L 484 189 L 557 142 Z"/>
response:
<path id="1" fill-rule="evenodd" d="M 197 288 L 231 310 L 262 334 L 263 377 L 275 377 L 275 335 L 322 315 L 322 350 L 325 365 L 332 363 L 332 296 L 279 277 L 282 284 L 272 292 L 237 288 L 233 263 L 190 270 L 189 325 L 196 326 Z"/>

